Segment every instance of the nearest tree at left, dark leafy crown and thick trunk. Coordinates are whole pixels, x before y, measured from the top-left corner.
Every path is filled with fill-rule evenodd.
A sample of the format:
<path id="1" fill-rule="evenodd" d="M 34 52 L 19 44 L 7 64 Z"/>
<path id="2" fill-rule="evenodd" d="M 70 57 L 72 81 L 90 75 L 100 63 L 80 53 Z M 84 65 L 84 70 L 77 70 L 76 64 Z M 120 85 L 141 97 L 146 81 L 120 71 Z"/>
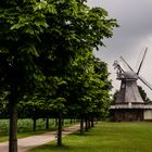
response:
<path id="1" fill-rule="evenodd" d="M 42 74 L 35 63 L 36 41 L 47 28 L 42 2 L 30 0 L 0 1 L 0 86 L 8 93 L 10 112 L 9 152 L 17 152 L 17 103 L 34 92 Z M 37 84 L 38 83 L 38 84 Z"/>

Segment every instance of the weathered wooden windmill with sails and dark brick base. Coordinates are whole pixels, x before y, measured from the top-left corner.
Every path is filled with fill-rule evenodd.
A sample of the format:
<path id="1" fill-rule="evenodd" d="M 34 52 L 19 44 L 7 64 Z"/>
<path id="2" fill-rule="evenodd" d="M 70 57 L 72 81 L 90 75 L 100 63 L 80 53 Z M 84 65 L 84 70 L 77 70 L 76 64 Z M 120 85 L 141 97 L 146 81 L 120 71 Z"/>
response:
<path id="1" fill-rule="evenodd" d="M 137 73 L 122 56 L 122 61 L 129 67 L 129 71 L 123 68 L 121 63 L 118 63 L 117 61 L 114 62 L 114 67 L 117 69 L 117 79 L 121 80 L 122 84 L 115 99 L 115 105 L 111 106 L 113 121 L 144 121 L 147 119 L 147 117 L 149 117 L 149 119 L 152 119 L 152 105 L 144 105 L 137 86 L 137 80 L 140 79 L 152 90 L 152 87 L 150 87 L 150 85 L 139 76 L 139 72 L 147 54 L 147 50 L 148 49 L 145 49 L 144 51 Z M 147 116 L 148 113 L 149 116 Z"/>

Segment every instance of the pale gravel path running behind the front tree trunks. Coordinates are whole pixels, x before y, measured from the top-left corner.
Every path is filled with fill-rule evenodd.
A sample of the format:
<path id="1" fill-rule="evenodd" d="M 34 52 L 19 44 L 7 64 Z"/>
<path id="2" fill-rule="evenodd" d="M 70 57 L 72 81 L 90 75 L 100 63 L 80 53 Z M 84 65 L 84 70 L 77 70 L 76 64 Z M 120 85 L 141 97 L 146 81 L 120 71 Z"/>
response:
<path id="1" fill-rule="evenodd" d="M 63 130 L 63 137 L 79 129 L 79 125 L 74 125 Z M 55 140 L 55 131 L 42 135 L 30 136 L 17 140 L 18 152 L 25 152 L 34 147 L 45 144 Z M 9 152 L 9 142 L 0 142 L 0 152 Z"/>

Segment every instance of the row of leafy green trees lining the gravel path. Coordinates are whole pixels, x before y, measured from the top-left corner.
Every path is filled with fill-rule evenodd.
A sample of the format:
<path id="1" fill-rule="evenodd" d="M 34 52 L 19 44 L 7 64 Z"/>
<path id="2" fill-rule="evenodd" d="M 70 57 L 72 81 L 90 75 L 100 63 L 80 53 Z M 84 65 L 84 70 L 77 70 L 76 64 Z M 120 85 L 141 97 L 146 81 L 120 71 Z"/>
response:
<path id="1" fill-rule="evenodd" d="M 9 109 L 9 152 L 17 152 L 17 106 L 53 114 L 59 137 L 63 115 L 84 119 L 105 113 L 111 83 L 106 64 L 92 51 L 117 24 L 86 2 L 0 1 L 0 92 Z"/>

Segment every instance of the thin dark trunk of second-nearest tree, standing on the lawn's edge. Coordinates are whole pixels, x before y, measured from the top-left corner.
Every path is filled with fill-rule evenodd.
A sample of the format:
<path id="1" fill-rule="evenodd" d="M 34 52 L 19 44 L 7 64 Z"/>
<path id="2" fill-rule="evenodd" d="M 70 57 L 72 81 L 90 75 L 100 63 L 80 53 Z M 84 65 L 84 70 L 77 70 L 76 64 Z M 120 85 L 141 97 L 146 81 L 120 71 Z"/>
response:
<path id="1" fill-rule="evenodd" d="M 62 145 L 62 116 L 59 114 L 59 122 L 58 122 L 58 145 Z"/>

